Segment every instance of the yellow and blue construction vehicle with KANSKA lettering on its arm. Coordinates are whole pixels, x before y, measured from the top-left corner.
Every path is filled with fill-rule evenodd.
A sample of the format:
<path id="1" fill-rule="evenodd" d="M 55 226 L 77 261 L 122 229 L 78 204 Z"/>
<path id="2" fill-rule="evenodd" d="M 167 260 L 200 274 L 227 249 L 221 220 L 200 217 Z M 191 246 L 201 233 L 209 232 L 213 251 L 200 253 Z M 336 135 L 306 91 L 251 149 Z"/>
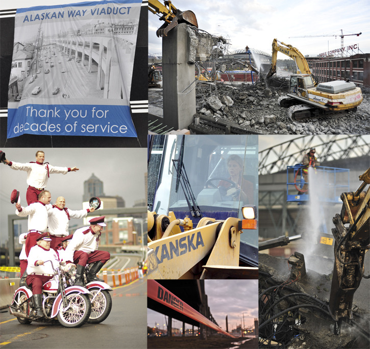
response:
<path id="1" fill-rule="evenodd" d="M 258 138 L 245 136 L 151 137 L 149 279 L 258 278 Z M 229 158 L 245 164 L 240 187 Z"/>

